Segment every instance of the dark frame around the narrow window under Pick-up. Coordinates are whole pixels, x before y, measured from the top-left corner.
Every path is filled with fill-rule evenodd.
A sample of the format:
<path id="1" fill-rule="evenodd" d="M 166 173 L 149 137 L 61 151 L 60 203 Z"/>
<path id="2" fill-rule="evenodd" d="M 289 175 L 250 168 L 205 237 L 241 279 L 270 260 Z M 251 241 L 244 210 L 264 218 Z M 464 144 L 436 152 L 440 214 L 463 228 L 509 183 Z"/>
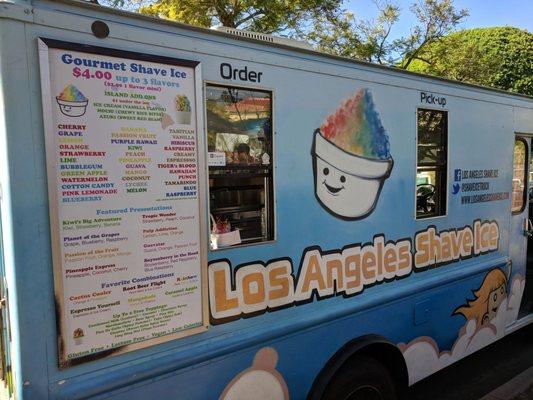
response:
<path id="1" fill-rule="evenodd" d="M 442 198 L 444 198 L 445 200 L 445 210 L 444 210 L 444 213 L 443 214 L 439 214 L 439 215 L 431 215 L 431 216 L 428 216 L 428 217 L 421 217 L 421 216 L 418 216 L 418 210 L 417 210 L 417 176 L 418 176 L 418 112 L 420 110 L 423 110 L 423 111 L 438 111 L 438 112 L 443 112 L 446 114 L 446 136 L 445 136 L 445 143 L 446 143 L 446 164 L 445 166 L 440 166 L 439 164 L 434 164 L 432 166 L 425 166 L 425 167 L 422 167 L 422 168 L 428 168 L 429 171 L 437 171 L 439 169 L 441 169 L 443 172 L 446 173 L 446 185 L 445 185 L 445 190 L 444 190 L 444 193 L 442 194 Z M 449 166 L 450 166 L 450 110 L 448 108 L 442 108 L 442 107 L 416 107 L 415 109 L 415 188 L 414 188 L 414 218 L 416 221 L 422 221 L 422 220 L 431 220 L 431 219 L 436 219 L 436 218 L 445 218 L 448 216 L 448 210 L 449 210 L 449 191 L 450 191 L 450 188 L 449 188 L 449 176 L 450 176 L 450 171 L 449 171 Z"/>

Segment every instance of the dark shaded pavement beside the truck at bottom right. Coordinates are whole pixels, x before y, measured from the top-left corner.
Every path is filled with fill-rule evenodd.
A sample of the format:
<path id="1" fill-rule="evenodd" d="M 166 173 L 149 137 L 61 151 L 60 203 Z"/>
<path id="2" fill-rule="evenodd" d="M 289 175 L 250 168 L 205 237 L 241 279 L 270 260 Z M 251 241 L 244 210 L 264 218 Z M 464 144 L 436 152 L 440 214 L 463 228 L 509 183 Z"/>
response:
<path id="1" fill-rule="evenodd" d="M 406 400 L 533 400 L 533 324 L 413 385 Z"/>

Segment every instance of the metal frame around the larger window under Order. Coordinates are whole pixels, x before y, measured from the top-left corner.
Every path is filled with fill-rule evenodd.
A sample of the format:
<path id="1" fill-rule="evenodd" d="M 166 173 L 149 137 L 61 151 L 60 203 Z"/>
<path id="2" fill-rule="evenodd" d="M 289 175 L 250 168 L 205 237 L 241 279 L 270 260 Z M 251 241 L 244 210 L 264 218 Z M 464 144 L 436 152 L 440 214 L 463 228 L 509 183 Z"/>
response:
<path id="1" fill-rule="evenodd" d="M 249 243 L 240 243 L 233 246 L 228 247 L 219 247 L 216 249 L 212 249 L 208 245 L 208 251 L 224 251 L 224 250 L 231 250 L 241 247 L 249 247 L 249 246 L 260 246 L 260 245 L 266 245 L 266 244 L 272 244 L 278 241 L 278 221 L 277 221 L 277 200 L 276 200 L 276 170 L 277 170 L 277 157 L 276 157 L 276 129 L 275 129 L 275 90 L 274 88 L 267 87 L 267 86 L 256 86 L 256 85 L 246 85 L 246 84 L 235 84 L 235 83 L 228 83 L 228 82 L 221 82 L 221 81 L 212 81 L 212 80 L 204 80 L 203 81 L 203 98 L 202 98 L 202 107 L 203 107 L 203 117 L 204 117 L 204 154 L 205 154 L 205 171 L 207 177 L 207 234 L 209 235 L 211 233 L 210 229 L 210 218 L 209 215 L 211 215 L 211 202 L 209 201 L 210 196 L 210 188 L 209 188 L 209 163 L 208 163 L 208 157 L 209 157 L 209 148 L 208 148 L 208 140 L 207 140 L 207 88 L 208 86 L 216 86 L 219 88 L 236 88 L 236 89 L 248 89 L 248 90 L 256 90 L 260 92 L 268 92 L 270 93 L 270 120 L 271 120 L 271 130 L 272 130 L 272 154 L 271 154 L 271 164 L 272 164 L 272 229 L 274 230 L 272 239 L 269 240 L 262 240 L 257 242 L 249 242 Z M 209 237 L 207 238 L 207 243 L 209 243 Z"/>

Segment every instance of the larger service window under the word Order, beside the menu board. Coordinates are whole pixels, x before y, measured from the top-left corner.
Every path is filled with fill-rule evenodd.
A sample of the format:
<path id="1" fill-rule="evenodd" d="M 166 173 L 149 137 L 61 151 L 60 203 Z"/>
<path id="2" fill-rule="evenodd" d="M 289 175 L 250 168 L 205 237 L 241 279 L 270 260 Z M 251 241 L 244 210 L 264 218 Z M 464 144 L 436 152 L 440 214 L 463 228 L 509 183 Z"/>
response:
<path id="1" fill-rule="evenodd" d="M 274 239 L 272 93 L 206 86 L 210 246 Z"/>

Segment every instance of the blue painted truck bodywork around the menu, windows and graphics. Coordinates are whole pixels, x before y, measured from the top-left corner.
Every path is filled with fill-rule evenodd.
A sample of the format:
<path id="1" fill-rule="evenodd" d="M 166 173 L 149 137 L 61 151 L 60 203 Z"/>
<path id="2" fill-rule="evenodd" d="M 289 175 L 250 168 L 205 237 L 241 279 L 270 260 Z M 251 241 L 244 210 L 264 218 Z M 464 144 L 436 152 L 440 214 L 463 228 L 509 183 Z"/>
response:
<path id="1" fill-rule="evenodd" d="M 291 398 L 302 399 L 326 361 L 359 336 L 379 334 L 393 343 L 430 336 L 441 350 L 450 349 L 465 322 L 460 315 L 452 316 L 453 310 L 479 287 L 486 271 L 505 266 L 510 238 L 515 238 L 510 233 L 510 201 L 462 205 L 460 197 L 451 193 L 452 171 L 498 169 L 500 176 L 491 181 L 491 191 L 509 192 L 513 133 L 533 132 L 531 100 L 97 9 L 54 2 L 35 1 L 33 5 L 35 23 L 0 19 L 5 110 L 0 118 L 0 143 L 5 142 L 2 166 L 7 166 L 0 173 L 3 244 L 20 399 L 217 398 L 265 346 L 278 352 L 277 370 Z M 90 34 L 94 19 L 110 24 L 109 39 L 98 40 Z M 339 249 L 369 242 L 376 234 L 387 240 L 412 238 L 430 224 L 444 230 L 471 225 L 478 218 L 498 222 L 499 250 L 378 284 L 349 299 L 315 300 L 61 371 L 57 367 L 39 36 L 199 60 L 207 81 L 226 82 L 219 76 L 219 65 L 228 60 L 235 67 L 246 65 L 264 72 L 261 87 L 274 91 L 276 241 L 211 252 L 210 260 L 227 258 L 235 267 L 290 257 L 296 273 L 309 246 Z M 372 92 L 395 164 L 375 211 L 361 221 L 343 221 L 315 199 L 310 151 L 314 130 L 342 99 L 361 88 Z M 447 216 L 417 221 L 415 144 L 420 90 L 447 98 L 450 193 Z M 520 123 L 515 119 L 517 109 L 525 115 Z M 431 304 L 431 313 L 427 322 L 415 325 L 415 304 L 420 301 Z"/>

